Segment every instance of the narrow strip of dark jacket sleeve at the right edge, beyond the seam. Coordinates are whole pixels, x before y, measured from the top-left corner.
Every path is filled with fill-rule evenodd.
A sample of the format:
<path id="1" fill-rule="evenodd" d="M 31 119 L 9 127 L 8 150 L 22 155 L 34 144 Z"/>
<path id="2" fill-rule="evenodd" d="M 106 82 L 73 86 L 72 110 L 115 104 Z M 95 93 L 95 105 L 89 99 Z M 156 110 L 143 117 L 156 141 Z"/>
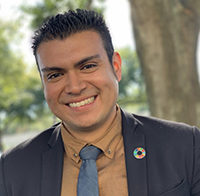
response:
<path id="1" fill-rule="evenodd" d="M 193 178 L 192 178 L 192 187 L 191 195 L 200 196 L 200 130 L 194 127 L 194 160 L 193 160 Z"/>

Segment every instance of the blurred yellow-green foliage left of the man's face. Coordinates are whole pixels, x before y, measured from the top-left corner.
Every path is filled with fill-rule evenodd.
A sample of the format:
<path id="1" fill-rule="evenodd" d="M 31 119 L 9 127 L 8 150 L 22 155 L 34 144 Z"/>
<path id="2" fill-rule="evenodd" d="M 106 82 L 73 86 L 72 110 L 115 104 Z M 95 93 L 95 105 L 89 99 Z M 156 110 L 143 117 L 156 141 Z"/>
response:
<path id="1" fill-rule="evenodd" d="M 0 21 L 0 135 L 13 122 L 35 119 L 46 107 L 36 70 L 27 72 L 22 56 L 11 44 L 18 39 L 17 28 Z"/>

